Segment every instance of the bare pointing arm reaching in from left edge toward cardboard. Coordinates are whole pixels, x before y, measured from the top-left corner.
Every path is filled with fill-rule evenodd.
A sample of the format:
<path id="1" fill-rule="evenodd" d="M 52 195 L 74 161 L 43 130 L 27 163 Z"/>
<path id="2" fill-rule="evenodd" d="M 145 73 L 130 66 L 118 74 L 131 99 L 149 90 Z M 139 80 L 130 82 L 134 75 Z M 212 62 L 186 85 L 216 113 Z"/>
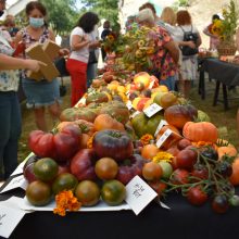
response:
<path id="1" fill-rule="evenodd" d="M 0 54 L 0 71 L 27 68 L 34 72 L 38 72 L 41 64 L 45 65 L 42 62 L 36 60 L 23 60 L 5 54 Z"/>

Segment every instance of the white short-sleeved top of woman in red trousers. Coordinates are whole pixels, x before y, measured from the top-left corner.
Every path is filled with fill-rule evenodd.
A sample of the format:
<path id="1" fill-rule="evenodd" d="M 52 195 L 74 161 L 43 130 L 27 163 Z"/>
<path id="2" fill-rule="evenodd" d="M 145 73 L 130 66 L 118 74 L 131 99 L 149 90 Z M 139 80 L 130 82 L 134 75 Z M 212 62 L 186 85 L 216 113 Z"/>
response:
<path id="1" fill-rule="evenodd" d="M 79 36 L 80 38 L 84 37 L 86 35 L 86 33 L 84 32 L 84 29 L 79 26 L 75 27 L 70 36 L 70 46 L 72 48 L 72 38 L 73 36 Z M 88 45 L 85 46 L 84 48 L 79 49 L 79 50 L 73 50 L 70 54 L 70 59 L 74 59 L 80 62 L 85 62 L 88 63 L 88 59 L 89 59 L 89 47 Z"/>

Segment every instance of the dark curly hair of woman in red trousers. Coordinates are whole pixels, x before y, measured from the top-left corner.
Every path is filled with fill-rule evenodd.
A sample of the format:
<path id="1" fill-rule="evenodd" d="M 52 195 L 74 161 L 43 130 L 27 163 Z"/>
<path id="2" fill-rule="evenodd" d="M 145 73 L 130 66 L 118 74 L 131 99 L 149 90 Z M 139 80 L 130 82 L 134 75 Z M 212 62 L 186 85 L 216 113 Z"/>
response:
<path id="1" fill-rule="evenodd" d="M 77 26 L 81 27 L 84 32 L 88 34 L 93 30 L 95 25 L 98 23 L 99 23 L 99 17 L 96 13 L 86 12 L 79 18 Z"/>

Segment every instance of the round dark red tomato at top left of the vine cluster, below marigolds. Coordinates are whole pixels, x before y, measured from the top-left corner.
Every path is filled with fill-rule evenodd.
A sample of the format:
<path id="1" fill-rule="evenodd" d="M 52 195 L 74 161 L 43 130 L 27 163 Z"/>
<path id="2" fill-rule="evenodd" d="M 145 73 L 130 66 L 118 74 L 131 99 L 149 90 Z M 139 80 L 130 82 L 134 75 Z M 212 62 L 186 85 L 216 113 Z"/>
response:
<path id="1" fill-rule="evenodd" d="M 191 149 L 181 150 L 177 154 L 177 165 L 179 168 L 191 169 L 198 160 L 198 153 Z"/>

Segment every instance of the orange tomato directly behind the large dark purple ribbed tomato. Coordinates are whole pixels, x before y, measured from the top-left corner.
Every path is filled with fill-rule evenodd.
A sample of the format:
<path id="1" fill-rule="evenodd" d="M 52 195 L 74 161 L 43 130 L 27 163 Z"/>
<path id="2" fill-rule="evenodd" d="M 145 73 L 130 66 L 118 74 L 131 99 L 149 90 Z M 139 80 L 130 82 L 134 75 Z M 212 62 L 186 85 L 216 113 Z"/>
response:
<path id="1" fill-rule="evenodd" d="M 98 115 L 93 122 L 93 126 L 97 131 L 103 129 L 117 129 L 123 131 L 125 130 L 124 125 L 111 117 L 109 114 Z"/>

